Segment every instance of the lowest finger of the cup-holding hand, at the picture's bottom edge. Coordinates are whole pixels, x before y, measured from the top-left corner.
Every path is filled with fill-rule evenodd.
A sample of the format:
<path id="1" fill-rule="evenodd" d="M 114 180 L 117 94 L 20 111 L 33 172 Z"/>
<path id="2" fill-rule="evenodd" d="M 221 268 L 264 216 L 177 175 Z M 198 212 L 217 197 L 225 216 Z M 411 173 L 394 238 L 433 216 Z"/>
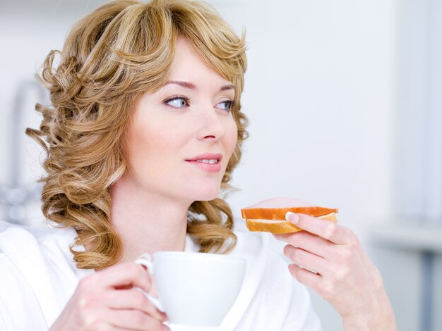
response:
<path id="1" fill-rule="evenodd" d="M 114 327 L 130 330 L 163 330 L 162 321 L 143 311 L 131 309 L 108 309 L 104 318 Z"/>

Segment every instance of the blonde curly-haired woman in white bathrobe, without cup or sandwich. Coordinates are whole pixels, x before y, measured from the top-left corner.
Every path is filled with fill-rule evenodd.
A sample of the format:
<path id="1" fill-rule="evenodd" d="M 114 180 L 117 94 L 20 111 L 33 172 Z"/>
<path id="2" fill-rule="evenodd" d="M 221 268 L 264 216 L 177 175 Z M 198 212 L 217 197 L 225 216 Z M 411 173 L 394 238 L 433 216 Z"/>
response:
<path id="1" fill-rule="evenodd" d="M 337 309 L 345 330 L 395 329 L 381 277 L 350 230 L 287 215 L 306 230 L 277 236 L 289 244 L 289 272 L 268 237 L 233 230 L 220 189 L 230 189 L 246 139 L 246 56 L 244 37 L 213 10 L 115 1 L 78 22 L 57 66 L 56 54 L 41 75 L 52 107 L 37 105 L 40 130 L 28 129 L 47 151 L 42 210 L 52 227 L 0 223 L 6 330 L 167 330 L 167 316 L 133 290 L 156 295 L 133 261 L 163 250 L 248 259 L 250 290 L 223 330 L 319 330 L 299 282 Z"/>

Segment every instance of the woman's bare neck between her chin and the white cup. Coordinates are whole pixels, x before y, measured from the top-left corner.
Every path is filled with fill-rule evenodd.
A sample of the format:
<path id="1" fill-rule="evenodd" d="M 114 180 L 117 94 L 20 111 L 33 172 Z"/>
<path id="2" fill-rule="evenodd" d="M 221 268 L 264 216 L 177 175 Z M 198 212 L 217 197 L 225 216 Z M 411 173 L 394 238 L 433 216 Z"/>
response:
<path id="1" fill-rule="evenodd" d="M 190 203 L 145 192 L 120 178 L 112 187 L 112 227 L 121 237 L 120 262 L 143 253 L 184 251 Z"/>

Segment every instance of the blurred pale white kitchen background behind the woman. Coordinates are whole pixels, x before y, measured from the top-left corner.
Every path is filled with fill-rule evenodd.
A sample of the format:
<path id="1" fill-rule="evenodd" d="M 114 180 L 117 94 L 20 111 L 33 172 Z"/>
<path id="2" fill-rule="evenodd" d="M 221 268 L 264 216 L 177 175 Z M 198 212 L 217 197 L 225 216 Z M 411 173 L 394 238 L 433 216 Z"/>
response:
<path id="1" fill-rule="evenodd" d="M 24 135 L 47 103 L 34 74 L 103 2 L 0 1 L 0 219 L 42 223 L 42 152 Z M 442 330 L 442 1 L 208 2 L 249 45 L 234 213 L 273 196 L 339 208 L 381 270 L 398 330 Z M 324 330 L 341 330 L 312 297 Z"/>

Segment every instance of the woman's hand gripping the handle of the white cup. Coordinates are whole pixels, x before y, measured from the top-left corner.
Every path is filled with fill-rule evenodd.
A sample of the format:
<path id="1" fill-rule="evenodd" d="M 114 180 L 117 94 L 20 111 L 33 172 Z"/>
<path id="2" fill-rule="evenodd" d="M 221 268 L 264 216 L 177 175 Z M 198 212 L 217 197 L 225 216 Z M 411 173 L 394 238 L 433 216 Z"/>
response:
<path id="1" fill-rule="evenodd" d="M 148 270 L 133 262 L 83 278 L 49 331 L 169 330 L 165 314 L 133 287 L 152 287 Z"/>

